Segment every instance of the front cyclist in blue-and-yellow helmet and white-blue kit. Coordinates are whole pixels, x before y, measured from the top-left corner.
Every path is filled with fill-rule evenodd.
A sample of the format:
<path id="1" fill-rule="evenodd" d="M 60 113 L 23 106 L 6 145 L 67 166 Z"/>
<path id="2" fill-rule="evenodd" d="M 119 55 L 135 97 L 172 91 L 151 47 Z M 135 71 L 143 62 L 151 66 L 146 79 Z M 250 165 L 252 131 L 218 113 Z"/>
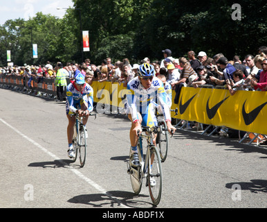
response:
<path id="1" fill-rule="evenodd" d="M 127 101 L 125 103 L 125 112 L 131 120 L 130 141 L 131 157 L 130 161 L 133 167 L 140 165 L 138 159 L 138 130 L 142 132 L 142 126 L 157 126 L 155 115 L 156 105 L 160 105 L 163 110 L 163 116 L 167 123 L 168 131 L 176 130 L 171 123 L 169 107 L 167 105 L 167 94 L 163 87 L 163 82 L 155 77 L 156 71 L 152 65 L 144 63 L 138 68 L 138 76 L 133 78 L 127 84 Z M 154 138 L 156 146 L 156 137 Z"/>

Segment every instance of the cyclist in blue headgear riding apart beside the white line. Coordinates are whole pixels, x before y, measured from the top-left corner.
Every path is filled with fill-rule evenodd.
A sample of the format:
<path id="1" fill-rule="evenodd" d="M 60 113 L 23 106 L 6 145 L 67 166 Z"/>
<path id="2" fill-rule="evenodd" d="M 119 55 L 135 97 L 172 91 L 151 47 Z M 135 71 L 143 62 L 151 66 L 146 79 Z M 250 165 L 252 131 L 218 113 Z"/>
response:
<path id="1" fill-rule="evenodd" d="M 70 114 L 76 113 L 82 119 L 84 126 L 86 126 L 89 112 L 93 110 L 93 88 L 85 83 L 84 76 L 77 74 L 75 80 L 71 80 L 66 89 L 66 116 L 68 117 L 68 157 L 75 157 L 73 152 L 73 127 L 75 124 L 75 116 Z M 87 138 L 87 135 L 86 135 Z"/>

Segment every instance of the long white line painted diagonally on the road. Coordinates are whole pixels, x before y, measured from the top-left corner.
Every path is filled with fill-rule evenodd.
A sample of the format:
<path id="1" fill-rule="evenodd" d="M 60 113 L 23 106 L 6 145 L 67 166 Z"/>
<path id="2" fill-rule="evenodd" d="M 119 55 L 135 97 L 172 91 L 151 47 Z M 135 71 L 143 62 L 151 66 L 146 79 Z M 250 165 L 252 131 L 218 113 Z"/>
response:
<path id="1" fill-rule="evenodd" d="M 28 142 L 31 142 L 32 144 L 34 144 L 35 146 L 40 148 L 42 151 L 44 151 L 44 153 L 50 155 L 50 157 L 53 157 L 55 160 L 59 160 L 59 162 L 62 162 L 62 164 L 66 165 L 66 162 L 64 162 L 64 160 L 60 160 L 59 157 L 57 157 L 55 154 L 53 154 L 50 151 L 48 151 L 46 148 L 44 148 L 44 146 L 41 146 L 40 144 L 35 142 L 33 139 L 30 139 L 30 137 L 27 137 L 26 135 L 21 133 L 19 130 L 17 130 L 15 127 L 11 126 L 9 123 L 4 121 L 3 119 L 0 118 L 0 121 L 2 123 L 4 123 L 6 126 L 10 127 L 12 130 L 14 130 L 16 133 L 18 133 L 21 137 L 24 137 L 24 139 L 27 139 Z M 69 168 L 69 169 L 71 171 L 73 171 L 73 173 L 75 173 L 76 176 L 78 176 L 79 178 L 81 178 L 82 180 L 87 182 L 89 185 L 91 185 L 92 187 L 94 187 L 95 189 L 100 191 L 102 194 L 105 194 L 105 195 L 109 196 L 109 198 L 111 198 L 112 200 L 115 200 L 121 207 L 126 207 L 127 208 L 127 206 L 123 205 L 120 200 L 118 200 L 117 198 L 113 197 L 111 194 L 109 194 L 109 192 L 107 190 L 102 188 L 97 183 L 93 182 L 93 180 L 91 180 L 91 179 L 87 178 L 86 176 L 84 176 L 80 171 L 78 171 L 77 169 L 73 169 L 73 168 Z"/>

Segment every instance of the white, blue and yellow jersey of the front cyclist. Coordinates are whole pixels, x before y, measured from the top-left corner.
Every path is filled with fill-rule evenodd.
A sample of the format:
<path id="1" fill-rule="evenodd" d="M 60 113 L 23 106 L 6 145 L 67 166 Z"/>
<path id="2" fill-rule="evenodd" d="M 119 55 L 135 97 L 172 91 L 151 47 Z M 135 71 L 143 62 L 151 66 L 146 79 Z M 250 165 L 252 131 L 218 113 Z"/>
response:
<path id="1" fill-rule="evenodd" d="M 149 110 L 155 108 L 156 105 L 160 105 L 165 121 L 171 120 L 167 104 L 168 97 L 163 82 L 159 78 L 154 77 L 151 86 L 145 89 L 137 76 L 129 81 L 127 89 L 125 111 L 127 114 L 131 114 L 132 121 L 138 119 L 138 112 L 142 115 L 146 115 Z M 147 126 L 148 125 L 151 124 L 147 124 Z"/>

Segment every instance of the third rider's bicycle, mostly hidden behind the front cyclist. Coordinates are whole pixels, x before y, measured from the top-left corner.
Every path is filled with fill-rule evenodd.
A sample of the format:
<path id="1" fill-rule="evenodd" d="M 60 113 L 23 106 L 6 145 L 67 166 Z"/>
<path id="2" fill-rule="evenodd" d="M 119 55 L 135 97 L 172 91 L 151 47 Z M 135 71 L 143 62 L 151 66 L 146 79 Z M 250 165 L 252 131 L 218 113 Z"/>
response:
<path id="1" fill-rule="evenodd" d="M 178 108 L 170 111 L 175 112 L 175 116 L 178 114 Z M 160 132 L 158 133 L 156 138 L 156 144 L 158 144 L 158 151 L 160 153 L 161 162 L 165 162 L 169 146 L 168 128 L 165 120 L 163 119 L 163 114 L 160 114 L 156 111 L 156 118 L 158 120 L 158 127 L 160 128 Z M 171 135 L 173 135 L 173 132 L 171 133 Z"/>

